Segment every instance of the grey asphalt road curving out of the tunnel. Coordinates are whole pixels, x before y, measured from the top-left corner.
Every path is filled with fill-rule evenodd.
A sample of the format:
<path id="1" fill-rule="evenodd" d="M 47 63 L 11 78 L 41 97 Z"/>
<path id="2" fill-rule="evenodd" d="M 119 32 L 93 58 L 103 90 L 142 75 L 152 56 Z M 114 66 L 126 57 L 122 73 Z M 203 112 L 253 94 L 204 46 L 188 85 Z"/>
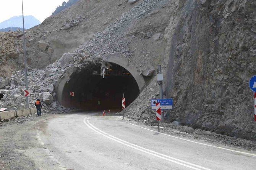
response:
<path id="1" fill-rule="evenodd" d="M 255 170 L 256 152 L 158 133 L 122 116 L 66 114 L 35 125 L 38 169 Z"/>

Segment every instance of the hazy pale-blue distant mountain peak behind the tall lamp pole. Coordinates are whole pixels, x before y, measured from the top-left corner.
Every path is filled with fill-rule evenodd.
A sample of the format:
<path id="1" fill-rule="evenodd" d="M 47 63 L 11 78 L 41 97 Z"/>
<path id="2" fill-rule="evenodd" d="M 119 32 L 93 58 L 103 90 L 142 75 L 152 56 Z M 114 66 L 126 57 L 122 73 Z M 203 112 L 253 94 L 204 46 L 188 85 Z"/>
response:
<path id="1" fill-rule="evenodd" d="M 41 24 L 41 22 L 36 19 L 34 16 L 24 16 L 24 27 L 25 29 L 29 29 L 31 27 L 34 27 L 38 24 Z M 21 16 L 13 16 L 8 20 L 5 20 L 0 23 L 0 29 L 8 28 L 8 27 L 20 27 L 23 28 L 23 21 L 22 21 L 22 15 Z"/>

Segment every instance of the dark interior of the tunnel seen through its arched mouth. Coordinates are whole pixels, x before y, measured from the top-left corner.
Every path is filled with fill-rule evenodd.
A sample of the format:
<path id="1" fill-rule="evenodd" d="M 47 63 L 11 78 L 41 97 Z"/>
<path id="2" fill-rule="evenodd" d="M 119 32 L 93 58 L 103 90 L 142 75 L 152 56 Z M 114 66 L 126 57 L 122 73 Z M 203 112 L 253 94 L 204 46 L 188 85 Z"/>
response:
<path id="1" fill-rule="evenodd" d="M 105 70 L 104 78 L 100 75 L 100 66 L 74 72 L 62 91 L 62 104 L 85 110 L 122 110 L 122 97 L 125 94 L 126 107 L 139 95 L 139 87 L 134 77 L 125 68 L 110 63 Z M 70 92 L 74 96 L 70 96 Z"/>

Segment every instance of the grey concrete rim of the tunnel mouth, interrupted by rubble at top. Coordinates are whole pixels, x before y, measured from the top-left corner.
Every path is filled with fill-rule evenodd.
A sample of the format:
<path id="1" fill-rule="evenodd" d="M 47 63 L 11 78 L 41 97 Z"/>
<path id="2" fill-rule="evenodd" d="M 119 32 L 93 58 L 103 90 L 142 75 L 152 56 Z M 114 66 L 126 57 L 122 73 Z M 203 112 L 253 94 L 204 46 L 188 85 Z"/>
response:
<path id="1" fill-rule="evenodd" d="M 104 56 L 102 58 L 102 60 L 106 61 L 106 62 L 109 62 L 109 63 L 117 64 L 118 66 L 121 66 L 121 67 L 125 68 L 133 76 L 134 80 L 136 81 L 136 83 L 138 85 L 139 91 L 143 90 L 143 88 L 145 86 L 144 78 L 143 78 L 142 75 L 139 75 L 136 67 L 134 67 L 133 65 L 130 65 L 124 59 L 118 58 L 118 57 L 115 57 L 115 56 Z M 79 72 L 81 72 L 81 70 L 82 69 L 79 68 L 79 67 L 71 67 L 58 80 L 58 82 L 56 84 L 56 87 L 55 87 L 55 91 L 56 91 L 57 100 L 62 105 L 64 104 L 63 99 L 65 98 L 65 95 L 66 95 L 66 94 L 65 95 L 63 94 L 63 91 L 65 90 L 66 83 L 70 80 L 70 77 L 72 77 L 72 75 L 79 74 Z"/>

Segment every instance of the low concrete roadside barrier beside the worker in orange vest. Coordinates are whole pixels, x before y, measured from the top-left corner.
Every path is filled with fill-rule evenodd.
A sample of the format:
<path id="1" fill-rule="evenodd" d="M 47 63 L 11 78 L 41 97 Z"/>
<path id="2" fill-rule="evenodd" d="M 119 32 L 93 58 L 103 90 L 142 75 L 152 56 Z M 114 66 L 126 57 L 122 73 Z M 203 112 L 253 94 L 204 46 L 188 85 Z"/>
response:
<path id="1" fill-rule="evenodd" d="M 31 113 L 36 113 L 36 108 L 3 111 L 3 112 L 0 112 L 0 119 L 2 119 L 2 120 L 11 119 L 16 116 L 18 116 L 18 117 L 26 116 Z"/>

